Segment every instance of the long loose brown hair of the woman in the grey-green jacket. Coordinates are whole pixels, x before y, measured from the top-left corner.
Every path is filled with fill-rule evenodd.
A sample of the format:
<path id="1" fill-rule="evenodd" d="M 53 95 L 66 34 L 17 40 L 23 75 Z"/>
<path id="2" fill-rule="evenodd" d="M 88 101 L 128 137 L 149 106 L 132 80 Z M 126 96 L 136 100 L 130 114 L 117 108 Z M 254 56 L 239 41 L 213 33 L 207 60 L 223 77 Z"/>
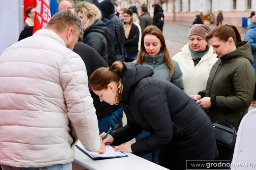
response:
<path id="1" fill-rule="evenodd" d="M 164 35 L 163 33 L 160 31 L 159 28 L 157 28 L 156 26 L 147 26 L 143 33 L 142 33 L 142 36 L 141 36 L 141 43 L 140 43 L 140 52 L 137 56 L 137 61 L 136 63 L 137 64 L 143 64 L 144 62 L 144 57 L 145 57 L 145 54 L 147 54 L 147 51 L 144 47 L 144 37 L 147 35 L 147 34 L 150 34 L 150 35 L 156 35 L 156 37 L 160 40 L 161 42 L 161 49 L 160 49 L 160 52 L 164 52 L 164 61 L 169 69 L 169 75 L 172 75 L 173 72 L 174 72 L 174 69 L 173 69 L 173 66 L 172 66 L 172 61 L 171 61 L 171 55 L 165 45 L 165 40 L 164 40 Z"/>

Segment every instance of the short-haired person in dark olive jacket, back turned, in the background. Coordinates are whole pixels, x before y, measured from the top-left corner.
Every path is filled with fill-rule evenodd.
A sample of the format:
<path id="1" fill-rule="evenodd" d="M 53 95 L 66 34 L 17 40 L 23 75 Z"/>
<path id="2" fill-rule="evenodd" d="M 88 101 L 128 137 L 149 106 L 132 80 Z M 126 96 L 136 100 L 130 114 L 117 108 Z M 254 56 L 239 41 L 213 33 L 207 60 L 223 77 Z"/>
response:
<path id="1" fill-rule="evenodd" d="M 147 27 L 153 24 L 153 19 L 151 18 L 150 14 L 148 13 L 147 5 L 143 4 L 141 6 L 141 16 L 140 16 L 140 28 L 141 32 Z"/>

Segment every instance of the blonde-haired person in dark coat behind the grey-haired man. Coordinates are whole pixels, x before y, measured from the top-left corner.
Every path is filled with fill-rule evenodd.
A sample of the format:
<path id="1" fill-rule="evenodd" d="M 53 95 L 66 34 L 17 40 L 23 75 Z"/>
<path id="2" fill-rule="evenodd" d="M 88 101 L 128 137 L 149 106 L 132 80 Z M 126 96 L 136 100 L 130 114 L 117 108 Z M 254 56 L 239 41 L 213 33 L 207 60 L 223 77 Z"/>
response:
<path id="1" fill-rule="evenodd" d="M 84 28 L 83 42 L 97 51 L 108 63 L 108 29 L 101 20 L 100 10 L 92 3 L 82 2 L 76 6 L 75 13 Z"/>

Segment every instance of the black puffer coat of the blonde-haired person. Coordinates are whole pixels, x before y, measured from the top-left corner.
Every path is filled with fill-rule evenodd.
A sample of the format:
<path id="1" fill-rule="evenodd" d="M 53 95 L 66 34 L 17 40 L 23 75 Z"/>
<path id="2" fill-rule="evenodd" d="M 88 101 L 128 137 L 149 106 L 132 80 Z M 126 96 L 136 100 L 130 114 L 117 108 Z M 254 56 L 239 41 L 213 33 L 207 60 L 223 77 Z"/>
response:
<path id="1" fill-rule="evenodd" d="M 100 56 L 108 63 L 108 29 L 103 21 L 97 19 L 84 30 L 83 42 L 96 50 Z"/>

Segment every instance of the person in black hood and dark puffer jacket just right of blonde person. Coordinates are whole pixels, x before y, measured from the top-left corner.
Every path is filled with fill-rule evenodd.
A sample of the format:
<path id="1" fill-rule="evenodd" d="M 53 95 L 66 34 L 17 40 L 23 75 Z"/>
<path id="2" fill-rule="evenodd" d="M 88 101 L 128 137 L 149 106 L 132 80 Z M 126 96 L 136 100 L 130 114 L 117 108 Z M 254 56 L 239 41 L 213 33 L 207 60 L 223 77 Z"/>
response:
<path id="1" fill-rule="evenodd" d="M 110 0 L 105 0 L 100 3 L 102 17 L 110 19 L 115 24 L 115 54 L 116 59 L 124 61 L 122 50 L 124 48 L 124 26 L 121 20 L 114 14 L 115 6 Z"/>

